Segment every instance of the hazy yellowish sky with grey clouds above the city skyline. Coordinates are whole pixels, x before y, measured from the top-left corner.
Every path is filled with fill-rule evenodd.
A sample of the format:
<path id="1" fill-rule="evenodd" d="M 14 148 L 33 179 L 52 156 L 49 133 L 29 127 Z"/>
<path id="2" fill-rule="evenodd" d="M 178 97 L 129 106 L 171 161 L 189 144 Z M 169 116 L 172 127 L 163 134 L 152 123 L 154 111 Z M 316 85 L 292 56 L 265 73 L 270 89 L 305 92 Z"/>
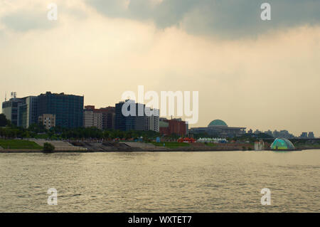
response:
<path id="1" fill-rule="evenodd" d="M 47 6 L 58 5 L 58 21 Z M 320 136 L 320 1 L 0 0 L 0 101 L 105 107 L 138 85 L 199 91 L 199 121 Z"/>

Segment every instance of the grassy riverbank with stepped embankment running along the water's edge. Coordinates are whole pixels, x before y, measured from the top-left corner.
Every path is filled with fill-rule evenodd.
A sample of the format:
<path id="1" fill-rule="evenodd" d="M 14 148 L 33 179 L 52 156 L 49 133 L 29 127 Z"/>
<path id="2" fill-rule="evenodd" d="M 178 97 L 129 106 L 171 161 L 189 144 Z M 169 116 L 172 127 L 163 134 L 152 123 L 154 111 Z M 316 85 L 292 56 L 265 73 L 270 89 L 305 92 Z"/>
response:
<path id="1" fill-rule="evenodd" d="M 45 139 L 15 139 L 0 141 L 0 153 L 39 153 L 43 152 L 43 144 L 49 142 L 59 153 L 85 152 L 228 152 L 254 150 L 252 143 L 178 143 L 178 142 L 87 142 L 87 141 L 48 141 Z M 0 144 L 0 145 L 1 145 Z M 5 145 L 4 145 L 5 144 Z M 270 147 L 266 144 L 265 147 Z M 320 146 L 296 147 L 302 149 L 320 149 Z M 268 149 L 265 149 L 268 150 Z"/>

